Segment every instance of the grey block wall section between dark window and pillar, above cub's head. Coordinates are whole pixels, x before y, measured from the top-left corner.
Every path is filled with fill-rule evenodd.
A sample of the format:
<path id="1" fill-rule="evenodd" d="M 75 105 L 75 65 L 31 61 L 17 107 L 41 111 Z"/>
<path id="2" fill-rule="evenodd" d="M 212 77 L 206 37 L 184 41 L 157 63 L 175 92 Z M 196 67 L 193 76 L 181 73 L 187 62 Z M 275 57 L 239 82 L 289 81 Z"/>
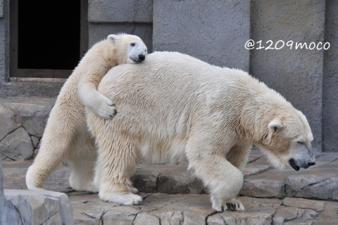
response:
<path id="1" fill-rule="evenodd" d="M 141 37 L 152 51 L 152 0 L 88 1 L 89 46 L 118 32 Z"/>

